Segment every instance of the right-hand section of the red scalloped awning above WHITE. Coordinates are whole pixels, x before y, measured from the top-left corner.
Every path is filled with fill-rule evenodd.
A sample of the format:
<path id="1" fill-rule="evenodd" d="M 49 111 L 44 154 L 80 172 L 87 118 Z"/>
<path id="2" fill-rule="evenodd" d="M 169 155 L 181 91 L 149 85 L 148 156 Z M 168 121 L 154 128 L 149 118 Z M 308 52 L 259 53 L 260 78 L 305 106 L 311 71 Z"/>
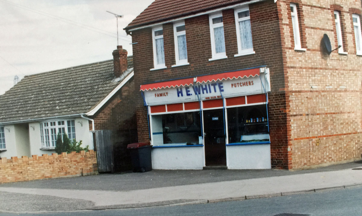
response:
<path id="1" fill-rule="evenodd" d="M 260 75 L 260 69 L 254 68 L 254 69 L 248 69 L 248 70 L 238 70 L 233 72 L 226 72 L 226 73 L 219 73 L 219 74 L 211 74 L 211 75 L 205 75 L 201 77 L 197 77 L 197 83 L 203 83 L 203 82 L 216 82 L 216 81 L 222 81 L 223 79 L 237 79 L 237 78 L 244 78 L 244 77 L 255 77 L 256 75 Z"/>

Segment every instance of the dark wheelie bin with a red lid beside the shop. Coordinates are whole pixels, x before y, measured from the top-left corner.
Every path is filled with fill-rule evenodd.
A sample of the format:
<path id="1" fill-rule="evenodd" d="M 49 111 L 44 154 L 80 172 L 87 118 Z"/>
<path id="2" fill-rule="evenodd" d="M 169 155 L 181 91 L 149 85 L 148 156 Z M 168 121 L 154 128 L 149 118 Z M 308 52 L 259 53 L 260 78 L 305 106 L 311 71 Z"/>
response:
<path id="1" fill-rule="evenodd" d="M 130 151 L 133 172 L 148 172 L 152 170 L 150 143 L 131 143 L 127 145 Z"/>

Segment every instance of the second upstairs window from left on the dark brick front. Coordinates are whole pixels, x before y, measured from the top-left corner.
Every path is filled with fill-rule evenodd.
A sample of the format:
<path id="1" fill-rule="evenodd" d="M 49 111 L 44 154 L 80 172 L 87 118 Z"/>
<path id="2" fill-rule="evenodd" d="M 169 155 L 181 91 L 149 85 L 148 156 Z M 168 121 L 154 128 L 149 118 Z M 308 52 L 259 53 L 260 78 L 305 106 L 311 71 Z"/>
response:
<path id="1" fill-rule="evenodd" d="M 188 64 L 185 21 L 174 23 L 173 33 L 175 40 L 176 65 Z"/>

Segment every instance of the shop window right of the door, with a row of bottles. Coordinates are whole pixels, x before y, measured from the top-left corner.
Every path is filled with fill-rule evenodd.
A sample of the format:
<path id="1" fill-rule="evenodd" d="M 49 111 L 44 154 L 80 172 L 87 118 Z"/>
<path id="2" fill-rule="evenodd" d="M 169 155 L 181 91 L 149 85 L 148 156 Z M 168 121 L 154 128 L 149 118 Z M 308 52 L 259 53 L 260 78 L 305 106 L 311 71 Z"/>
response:
<path id="1" fill-rule="evenodd" d="M 269 141 L 266 106 L 227 108 L 229 143 Z"/>

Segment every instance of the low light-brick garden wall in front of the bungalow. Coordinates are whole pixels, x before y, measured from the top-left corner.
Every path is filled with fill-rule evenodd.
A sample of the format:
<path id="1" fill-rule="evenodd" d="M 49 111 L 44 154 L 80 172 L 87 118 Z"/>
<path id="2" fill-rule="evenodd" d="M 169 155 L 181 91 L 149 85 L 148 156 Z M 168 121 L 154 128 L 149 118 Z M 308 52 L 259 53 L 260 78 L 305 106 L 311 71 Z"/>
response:
<path id="1" fill-rule="evenodd" d="M 93 150 L 0 160 L 0 183 L 98 174 Z"/>

